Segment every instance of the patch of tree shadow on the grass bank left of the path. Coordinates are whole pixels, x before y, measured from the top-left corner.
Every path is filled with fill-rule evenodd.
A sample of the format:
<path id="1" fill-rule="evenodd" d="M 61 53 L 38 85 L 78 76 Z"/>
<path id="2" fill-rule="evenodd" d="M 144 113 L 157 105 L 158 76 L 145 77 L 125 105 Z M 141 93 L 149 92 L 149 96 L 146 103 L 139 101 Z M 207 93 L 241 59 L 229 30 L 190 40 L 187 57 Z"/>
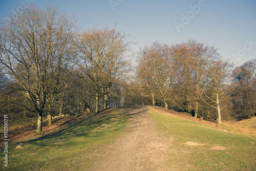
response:
<path id="1" fill-rule="evenodd" d="M 74 137 L 98 137 L 100 135 L 108 134 L 104 131 L 98 132 L 100 129 L 103 129 L 104 126 L 111 125 L 112 122 L 118 122 L 118 125 L 122 125 L 126 122 L 127 118 L 131 117 L 132 114 L 130 113 L 118 111 L 118 108 L 110 108 L 81 120 L 78 120 L 78 117 L 75 117 L 72 120 L 61 124 L 69 124 L 67 127 L 61 128 L 56 132 L 22 142 L 26 145 L 33 144 L 40 147 L 46 147 L 51 145 L 61 145 L 62 143 L 60 143 L 60 141 L 68 141 Z M 117 130 L 118 129 L 120 128 L 117 128 Z M 15 143 L 15 145 L 17 144 L 20 144 L 20 142 Z"/>

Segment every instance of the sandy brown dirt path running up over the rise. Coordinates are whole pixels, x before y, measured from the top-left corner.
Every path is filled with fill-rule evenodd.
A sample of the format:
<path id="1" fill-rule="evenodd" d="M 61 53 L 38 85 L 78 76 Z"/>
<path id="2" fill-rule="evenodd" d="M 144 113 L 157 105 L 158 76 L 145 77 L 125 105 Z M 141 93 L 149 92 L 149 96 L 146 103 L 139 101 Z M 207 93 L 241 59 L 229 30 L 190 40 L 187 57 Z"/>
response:
<path id="1" fill-rule="evenodd" d="M 125 135 L 105 148 L 107 154 L 94 170 L 170 170 L 167 149 L 172 144 L 159 134 L 148 108 L 123 108 L 131 114 Z"/>

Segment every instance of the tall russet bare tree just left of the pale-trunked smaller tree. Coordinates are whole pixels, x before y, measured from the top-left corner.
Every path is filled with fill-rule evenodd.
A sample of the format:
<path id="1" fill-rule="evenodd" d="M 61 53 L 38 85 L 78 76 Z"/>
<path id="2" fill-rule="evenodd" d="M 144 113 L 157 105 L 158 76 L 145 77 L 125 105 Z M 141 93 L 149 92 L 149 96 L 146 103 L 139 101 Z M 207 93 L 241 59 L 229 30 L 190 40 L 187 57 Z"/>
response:
<path id="1" fill-rule="evenodd" d="M 204 90 L 206 69 L 212 60 L 220 58 L 217 49 L 205 46 L 196 40 L 188 40 L 182 44 L 173 46 L 174 55 L 179 61 L 179 87 L 177 93 L 179 109 L 189 113 L 194 112 L 197 117 L 201 104 L 201 95 Z"/>

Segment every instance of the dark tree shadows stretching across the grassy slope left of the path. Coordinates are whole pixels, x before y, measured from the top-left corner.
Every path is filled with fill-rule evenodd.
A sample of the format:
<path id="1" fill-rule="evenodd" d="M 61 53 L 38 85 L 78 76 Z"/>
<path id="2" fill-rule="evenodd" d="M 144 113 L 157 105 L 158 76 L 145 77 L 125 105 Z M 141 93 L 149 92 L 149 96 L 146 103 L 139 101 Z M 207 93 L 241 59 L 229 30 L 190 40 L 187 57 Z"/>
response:
<path id="1" fill-rule="evenodd" d="M 130 117 L 132 117 L 132 114 L 123 111 L 122 108 L 106 109 L 91 117 L 70 123 L 65 129 L 44 136 L 35 137 L 32 140 L 22 141 L 22 143 L 24 143 L 24 145 L 32 144 L 33 146 L 38 147 L 52 145 L 62 146 L 74 143 L 79 137 L 84 139 L 104 137 L 124 129 L 127 119 Z M 79 117 L 77 120 L 78 119 Z M 20 144 L 20 142 L 12 144 L 10 149 L 15 148 L 18 144 Z"/>

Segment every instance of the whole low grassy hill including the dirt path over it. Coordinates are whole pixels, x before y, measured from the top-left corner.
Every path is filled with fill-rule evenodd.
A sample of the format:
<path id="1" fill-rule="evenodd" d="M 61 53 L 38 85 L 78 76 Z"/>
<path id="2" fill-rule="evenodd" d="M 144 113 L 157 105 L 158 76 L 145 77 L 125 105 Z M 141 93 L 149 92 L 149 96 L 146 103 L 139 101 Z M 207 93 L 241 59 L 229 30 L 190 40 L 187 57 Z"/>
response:
<path id="1" fill-rule="evenodd" d="M 9 143 L 8 170 L 256 169 L 255 138 L 230 132 L 234 125 L 158 107 L 107 109 L 56 118 L 54 125 L 45 135 Z"/>

